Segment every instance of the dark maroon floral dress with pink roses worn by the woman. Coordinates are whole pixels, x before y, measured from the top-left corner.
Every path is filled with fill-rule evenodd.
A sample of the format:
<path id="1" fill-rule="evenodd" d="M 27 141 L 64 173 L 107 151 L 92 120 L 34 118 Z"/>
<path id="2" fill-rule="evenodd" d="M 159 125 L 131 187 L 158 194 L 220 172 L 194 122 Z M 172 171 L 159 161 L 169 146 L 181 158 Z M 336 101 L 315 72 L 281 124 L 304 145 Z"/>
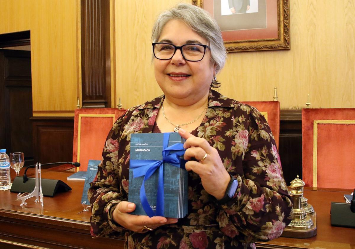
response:
<path id="1" fill-rule="evenodd" d="M 125 236 L 125 248 L 255 248 L 253 242 L 281 235 L 293 204 L 283 179 L 280 157 L 265 118 L 255 108 L 214 90 L 193 135 L 219 152 L 225 169 L 238 181 L 233 199 L 219 205 L 189 172 L 188 215 L 178 223 L 135 233 L 113 220 L 112 212 L 128 197 L 131 133 L 153 132 L 164 96 L 127 110 L 111 129 L 102 162 L 88 195 L 93 237 Z"/>

